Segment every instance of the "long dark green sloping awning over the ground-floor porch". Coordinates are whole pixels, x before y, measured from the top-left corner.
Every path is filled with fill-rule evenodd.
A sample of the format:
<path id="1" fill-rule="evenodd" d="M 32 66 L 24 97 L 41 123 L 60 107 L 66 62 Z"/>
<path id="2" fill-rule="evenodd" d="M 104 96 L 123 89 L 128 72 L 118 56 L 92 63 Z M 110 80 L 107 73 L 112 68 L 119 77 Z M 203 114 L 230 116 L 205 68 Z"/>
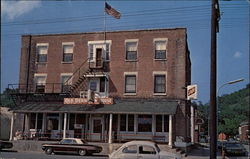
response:
<path id="1" fill-rule="evenodd" d="M 122 99 L 112 105 L 79 105 L 63 103 L 26 103 L 13 108 L 16 113 L 85 113 L 85 114 L 175 114 L 177 100 Z"/>

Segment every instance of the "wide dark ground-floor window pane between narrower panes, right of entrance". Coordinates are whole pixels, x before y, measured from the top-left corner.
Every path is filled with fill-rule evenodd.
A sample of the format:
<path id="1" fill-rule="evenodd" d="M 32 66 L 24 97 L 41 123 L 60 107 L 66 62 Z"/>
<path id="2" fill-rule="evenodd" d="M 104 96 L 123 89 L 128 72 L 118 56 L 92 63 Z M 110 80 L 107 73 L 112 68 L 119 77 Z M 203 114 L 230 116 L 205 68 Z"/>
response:
<path id="1" fill-rule="evenodd" d="M 152 115 L 138 115 L 138 131 L 152 132 Z"/>

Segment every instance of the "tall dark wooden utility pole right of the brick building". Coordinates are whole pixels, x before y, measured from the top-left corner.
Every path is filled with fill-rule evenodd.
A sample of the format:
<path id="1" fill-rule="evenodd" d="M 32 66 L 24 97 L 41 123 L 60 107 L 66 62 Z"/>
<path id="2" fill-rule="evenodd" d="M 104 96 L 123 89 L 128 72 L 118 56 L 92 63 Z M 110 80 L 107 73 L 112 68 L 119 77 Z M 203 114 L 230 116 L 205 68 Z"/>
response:
<path id="1" fill-rule="evenodd" d="M 219 3 L 212 0 L 211 15 L 211 67 L 210 67 L 210 159 L 217 156 L 217 110 L 216 110 L 216 83 L 217 83 L 217 32 L 219 31 Z"/>

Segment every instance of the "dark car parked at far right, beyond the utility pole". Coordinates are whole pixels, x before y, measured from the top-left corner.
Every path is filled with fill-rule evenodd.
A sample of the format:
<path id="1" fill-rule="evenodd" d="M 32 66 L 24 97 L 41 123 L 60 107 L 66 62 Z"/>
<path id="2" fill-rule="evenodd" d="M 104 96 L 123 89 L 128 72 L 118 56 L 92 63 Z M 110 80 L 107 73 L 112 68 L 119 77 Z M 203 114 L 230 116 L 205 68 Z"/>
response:
<path id="1" fill-rule="evenodd" d="M 246 149 L 239 143 L 227 142 L 223 145 L 223 152 L 226 156 L 245 156 L 247 155 Z"/>

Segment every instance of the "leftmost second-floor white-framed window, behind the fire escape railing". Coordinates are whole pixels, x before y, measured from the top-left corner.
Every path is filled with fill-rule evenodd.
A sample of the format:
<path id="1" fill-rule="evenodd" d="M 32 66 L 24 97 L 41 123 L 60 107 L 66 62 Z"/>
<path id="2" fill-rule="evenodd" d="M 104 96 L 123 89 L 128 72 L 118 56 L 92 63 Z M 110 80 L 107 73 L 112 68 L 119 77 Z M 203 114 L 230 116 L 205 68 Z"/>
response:
<path id="1" fill-rule="evenodd" d="M 35 74 L 34 84 L 35 84 L 35 92 L 44 93 L 45 85 L 46 85 L 47 74 Z"/>

